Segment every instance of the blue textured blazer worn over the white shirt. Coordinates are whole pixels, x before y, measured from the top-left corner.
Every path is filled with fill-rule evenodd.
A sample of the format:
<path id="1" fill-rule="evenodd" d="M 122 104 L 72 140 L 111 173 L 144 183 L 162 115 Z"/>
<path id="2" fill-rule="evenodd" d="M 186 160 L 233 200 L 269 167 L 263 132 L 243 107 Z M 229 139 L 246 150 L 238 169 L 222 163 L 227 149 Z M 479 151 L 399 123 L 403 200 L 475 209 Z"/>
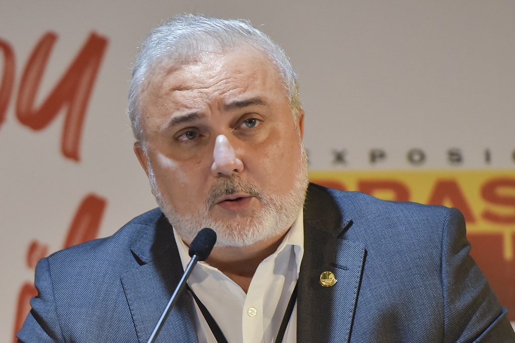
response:
<path id="1" fill-rule="evenodd" d="M 311 184 L 304 209 L 299 342 L 515 342 L 469 255 L 455 209 Z M 319 284 L 332 271 L 337 283 Z M 56 252 L 36 268 L 39 295 L 21 342 L 146 342 L 182 275 L 159 209 L 114 235 Z M 196 342 L 184 292 L 160 342 Z"/>

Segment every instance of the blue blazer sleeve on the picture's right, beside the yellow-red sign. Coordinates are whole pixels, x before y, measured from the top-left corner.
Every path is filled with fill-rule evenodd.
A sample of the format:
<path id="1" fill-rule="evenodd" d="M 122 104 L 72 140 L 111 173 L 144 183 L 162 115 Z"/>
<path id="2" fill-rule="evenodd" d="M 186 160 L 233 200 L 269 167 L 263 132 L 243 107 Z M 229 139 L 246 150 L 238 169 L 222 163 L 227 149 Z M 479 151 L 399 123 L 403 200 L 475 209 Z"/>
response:
<path id="1" fill-rule="evenodd" d="M 442 230 L 444 342 L 515 342 L 515 333 L 486 278 L 471 258 L 465 219 L 449 209 Z"/>

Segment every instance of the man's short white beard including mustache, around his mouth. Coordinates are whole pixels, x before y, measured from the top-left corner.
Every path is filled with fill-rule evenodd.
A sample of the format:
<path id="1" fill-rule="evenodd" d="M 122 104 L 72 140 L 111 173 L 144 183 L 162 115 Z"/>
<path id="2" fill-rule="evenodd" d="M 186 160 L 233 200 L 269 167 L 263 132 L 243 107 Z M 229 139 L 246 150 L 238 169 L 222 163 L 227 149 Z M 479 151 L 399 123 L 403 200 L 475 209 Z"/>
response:
<path id="1" fill-rule="evenodd" d="M 286 232 L 302 210 L 307 190 L 307 156 L 301 147 L 301 168 L 295 174 L 293 188 L 285 195 L 267 194 L 261 188 L 241 179 L 238 175 L 221 177 L 212 185 L 203 208 L 192 209 L 190 214 L 179 215 L 159 191 L 156 178 L 148 162 L 148 177 L 152 193 L 159 207 L 171 225 L 185 242 L 193 241 L 197 233 L 205 227 L 217 234 L 218 247 L 243 247 Z M 251 216 L 237 216 L 227 220 L 214 220 L 209 215 L 213 202 L 224 195 L 238 192 L 258 198 L 262 208 Z"/>

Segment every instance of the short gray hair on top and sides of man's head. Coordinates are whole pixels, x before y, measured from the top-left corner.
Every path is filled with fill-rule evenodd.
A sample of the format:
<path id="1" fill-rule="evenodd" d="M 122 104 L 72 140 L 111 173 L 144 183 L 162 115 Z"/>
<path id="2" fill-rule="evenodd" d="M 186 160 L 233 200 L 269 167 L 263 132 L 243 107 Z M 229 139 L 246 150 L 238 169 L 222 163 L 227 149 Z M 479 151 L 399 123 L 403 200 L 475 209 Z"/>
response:
<path id="1" fill-rule="evenodd" d="M 283 49 L 274 43 L 250 22 L 224 20 L 201 15 L 184 14 L 164 22 L 152 29 L 143 41 L 140 53 L 132 70 L 129 85 L 127 114 L 129 115 L 135 139 L 144 144 L 141 128 L 141 87 L 149 73 L 160 65 L 195 59 L 199 54 L 210 51 L 224 51 L 242 43 L 264 53 L 277 67 L 284 81 L 291 114 L 298 118 L 302 108 L 297 74 Z"/>

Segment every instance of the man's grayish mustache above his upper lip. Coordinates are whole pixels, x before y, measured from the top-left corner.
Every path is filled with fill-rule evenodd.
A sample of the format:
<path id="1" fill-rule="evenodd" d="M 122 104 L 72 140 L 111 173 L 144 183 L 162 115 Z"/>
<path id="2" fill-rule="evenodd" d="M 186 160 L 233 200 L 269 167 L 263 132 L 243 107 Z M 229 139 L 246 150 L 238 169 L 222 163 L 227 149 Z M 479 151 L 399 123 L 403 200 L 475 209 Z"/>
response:
<path id="1" fill-rule="evenodd" d="M 253 185 L 238 176 L 224 176 L 217 179 L 209 190 L 208 198 L 206 199 L 208 209 L 215 204 L 217 199 L 223 196 L 233 195 L 235 193 L 247 193 L 250 196 L 263 199 L 261 196 L 263 192 L 258 186 Z"/>

